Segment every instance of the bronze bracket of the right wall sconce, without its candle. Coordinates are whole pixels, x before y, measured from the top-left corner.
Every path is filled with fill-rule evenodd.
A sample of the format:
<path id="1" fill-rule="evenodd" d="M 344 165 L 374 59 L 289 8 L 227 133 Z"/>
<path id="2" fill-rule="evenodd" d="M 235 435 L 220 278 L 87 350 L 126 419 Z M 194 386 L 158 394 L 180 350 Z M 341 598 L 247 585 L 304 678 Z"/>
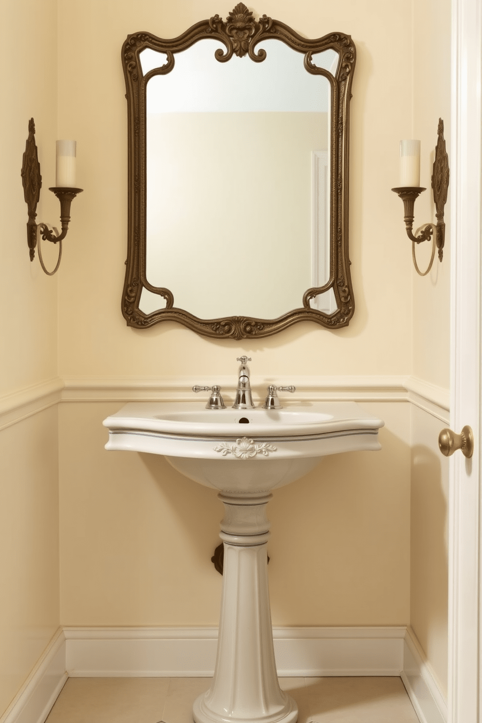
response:
<path id="1" fill-rule="evenodd" d="M 435 244 L 436 248 L 439 249 L 439 260 L 442 261 L 444 257 L 444 244 L 445 244 L 445 222 L 444 222 L 444 207 L 447 203 L 447 189 L 449 187 L 449 157 L 447 150 L 445 149 L 444 140 L 444 121 L 442 118 L 439 119 L 439 127 L 437 129 L 438 140 L 435 149 L 435 161 L 431 177 L 431 187 L 434 191 L 434 202 L 436 207 L 436 224 L 424 223 L 421 228 L 418 228 L 416 234 L 413 234 L 413 221 L 414 221 L 414 208 L 415 201 L 418 196 L 425 191 L 425 188 L 415 186 L 404 186 L 399 188 L 392 188 L 398 197 L 403 200 L 403 221 L 405 221 L 405 231 L 410 241 L 413 244 L 421 244 L 422 241 L 430 241 L 432 235 L 434 236 L 434 248 L 429 263 L 429 268 L 424 273 L 418 268 L 415 258 L 415 246 L 413 246 L 413 262 L 416 270 L 421 276 L 429 273 L 432 262 L 434 261 L 435 255 Z M 418 234 L 420 231 L 420 234 Z M 418 235 L 417 235 L 418 234 Z"/>

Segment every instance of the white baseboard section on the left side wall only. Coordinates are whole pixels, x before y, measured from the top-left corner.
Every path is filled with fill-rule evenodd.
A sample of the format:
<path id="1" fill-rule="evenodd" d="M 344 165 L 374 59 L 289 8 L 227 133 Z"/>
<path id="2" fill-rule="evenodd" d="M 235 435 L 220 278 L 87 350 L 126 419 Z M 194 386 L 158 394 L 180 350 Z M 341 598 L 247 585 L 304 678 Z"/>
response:
<path id="1" fill-rule="evenodd" d="M 65 637 L 58 630 L 0 723 L 44 723 L 69 675 L 65 669 Z"/>

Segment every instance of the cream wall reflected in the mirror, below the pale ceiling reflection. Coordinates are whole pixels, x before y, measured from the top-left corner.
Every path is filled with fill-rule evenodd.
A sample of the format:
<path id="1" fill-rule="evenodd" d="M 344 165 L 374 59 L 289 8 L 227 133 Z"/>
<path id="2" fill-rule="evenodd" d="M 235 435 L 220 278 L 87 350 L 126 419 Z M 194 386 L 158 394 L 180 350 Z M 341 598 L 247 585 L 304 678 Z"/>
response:
<path id="1" fill-rule="evenodd" d="M 312 153 L 327 137 L 326 113 L 148 114 L 148 281 L 204 318 L 301 307 Z"/>

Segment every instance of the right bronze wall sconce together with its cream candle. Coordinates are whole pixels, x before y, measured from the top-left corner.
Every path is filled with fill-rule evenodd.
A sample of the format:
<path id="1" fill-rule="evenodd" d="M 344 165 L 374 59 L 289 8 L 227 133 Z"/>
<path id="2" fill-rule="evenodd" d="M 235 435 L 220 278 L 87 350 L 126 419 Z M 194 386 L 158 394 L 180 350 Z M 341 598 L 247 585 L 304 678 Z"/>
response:
<path id="1" fill-rule="evenodd" d="M 447 202 L 447 189 L 449 187 L 449 157 L 445 150 L 444 140 L 444 121 L 439 118 L 439 127 L 437 129 L 438 140 L 435 149 L 435 161 L 432 171 L 431 186 L 434 189 L 434 202 L 436 207 L 436 225 L 434 223 L 424 223 L 415 232 L 413 228 L 413 210 L 415 200 L 426 189 L 420 187 L 420 141 L 419 140 L 402 140 L 400 141 L 400 188 L 392 188 L 398 196 L 403 200 L 403 210 L 405 221 L 405 231 L 408 238 L 413 241 L 412 257 L 417 273 L 425 276 L 431 270 L 435 256 L 435 246 L 439 249 L 439 260 L 444 257 L 445 244 L 445 223 L 444 223 L 444 206 Z M 420 233 L 419 233 L 420 232 Z M 432 254 L 429 267 L 422 273 L 418 268 L 415 256 L 415 244 L 421 244 L 422 241 L 430 241 L 432 239 Z"/>

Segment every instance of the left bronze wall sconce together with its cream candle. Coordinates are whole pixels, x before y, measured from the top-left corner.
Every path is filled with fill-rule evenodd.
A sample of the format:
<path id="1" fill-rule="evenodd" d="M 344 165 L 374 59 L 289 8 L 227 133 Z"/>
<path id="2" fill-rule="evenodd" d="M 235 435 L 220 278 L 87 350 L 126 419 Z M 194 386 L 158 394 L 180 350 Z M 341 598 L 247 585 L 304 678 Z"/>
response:
<path id="1" fill-rule="evenodd" d="M 28 121 L 28 138 L 25 144 L 22 164 L 22 185 L 25 202 L 28 208 L 27 221 L 27 242 L 30 249 L 30 261 L 35 257 L 35 247 L 38 239 L 38 259 L 46 274 L 52 276 L 59 268 L 62 257 L 62 240 L 67 235 L 70 221 L 70 204 L 81 188 L 74 188 L 75 183 L 75 141 L 58 140 L 56 158 L 56 185 L 49 188 L 60 201 L 61 233 L 56 228 L 51 231 L 46 223 L 35 223 L 37 215 L 37 204 L 40 198 L 42 187 L 42 176 L 40 176 L 40 163 L 38 163 L 37 145 L 35 144 L 35 123 L 33 118 Z M 43 241 L 52 241 L 56 244 L 59 241 L 59 259 L 53 271 L 48 271 L 43 265 L 42 252 L 40 251 L 40 236 Z"/>

